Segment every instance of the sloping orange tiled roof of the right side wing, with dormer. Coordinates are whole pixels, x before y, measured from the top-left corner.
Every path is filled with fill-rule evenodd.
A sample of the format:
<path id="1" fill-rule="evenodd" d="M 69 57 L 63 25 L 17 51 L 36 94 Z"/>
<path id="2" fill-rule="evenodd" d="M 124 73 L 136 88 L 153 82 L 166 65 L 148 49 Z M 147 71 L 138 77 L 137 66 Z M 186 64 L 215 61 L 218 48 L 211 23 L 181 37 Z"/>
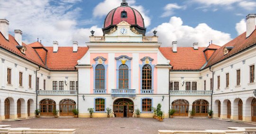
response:
<path id="1" fill-rule="evenodd" d="M 238 53 L 239 51 L 245 50 L 248 47 L 256 44 L 256 30 L 246 38 L 246 32 L 239 35 L 237 38 L 231 40 L 230 42 L 223 45 L 221 48 L 216 50 L 211 58 L 209 59 L 208 64 L 206 67 L 213 65 L 223 59 L 229 58 L 234 54 Z M 233 46 L 234 48 L 229 51 L 228 54 L 224 55 L 223 48 Z"/>

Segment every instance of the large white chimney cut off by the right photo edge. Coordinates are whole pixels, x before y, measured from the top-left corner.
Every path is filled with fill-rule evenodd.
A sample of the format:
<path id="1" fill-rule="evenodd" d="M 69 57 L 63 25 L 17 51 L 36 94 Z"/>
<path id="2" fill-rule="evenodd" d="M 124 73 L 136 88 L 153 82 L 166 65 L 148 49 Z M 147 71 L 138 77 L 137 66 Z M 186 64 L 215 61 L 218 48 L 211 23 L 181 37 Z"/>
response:
<path id="1" fill-rule="evenodd" d="M 246 37 L 249 37 L 255 30 L 256 14 L 248 14 L 246 16 Z"/>

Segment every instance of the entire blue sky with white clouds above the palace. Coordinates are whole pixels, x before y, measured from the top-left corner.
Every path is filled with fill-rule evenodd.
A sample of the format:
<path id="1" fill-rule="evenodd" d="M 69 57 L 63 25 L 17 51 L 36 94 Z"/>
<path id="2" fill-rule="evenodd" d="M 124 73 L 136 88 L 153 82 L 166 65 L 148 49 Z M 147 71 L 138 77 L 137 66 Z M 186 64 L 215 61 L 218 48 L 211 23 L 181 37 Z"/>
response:
<path id="1" fill-rule="evenodd" d="M 102 35 L 108 12 L 122 0 L 0 0 L 0 18 L 9 20 L 9 33 L 23 31 L 26 43 L 42 40 L 45 46 L 58 41 L 85 46 L 90 31 Z M 207 46 L 224 45 L 245 32 L 245 17 L 256 13 L 255 0 L 127 0 L 145 20 L 147 35 L 158 31 L 162 46 L 191 47 L 193 42 Z"/>

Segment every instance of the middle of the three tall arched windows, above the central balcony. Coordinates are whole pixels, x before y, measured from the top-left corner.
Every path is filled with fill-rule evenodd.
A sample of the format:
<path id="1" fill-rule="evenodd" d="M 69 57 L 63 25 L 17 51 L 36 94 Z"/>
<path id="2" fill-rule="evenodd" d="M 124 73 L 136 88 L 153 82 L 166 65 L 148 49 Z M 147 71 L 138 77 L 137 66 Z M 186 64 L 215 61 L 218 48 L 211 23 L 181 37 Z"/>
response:
<path id="1" fill-rule="evenodd" d="M 119 89 L 129 88 L 129 71 L 127 65 L 119 66 Z"/>

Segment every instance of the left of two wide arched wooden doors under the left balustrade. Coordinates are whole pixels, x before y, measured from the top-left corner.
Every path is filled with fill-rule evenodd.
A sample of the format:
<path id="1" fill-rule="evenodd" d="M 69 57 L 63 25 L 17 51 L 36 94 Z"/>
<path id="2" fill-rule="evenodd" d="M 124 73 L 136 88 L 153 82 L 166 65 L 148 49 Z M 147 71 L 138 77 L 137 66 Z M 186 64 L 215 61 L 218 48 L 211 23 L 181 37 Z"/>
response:
<path id="1" fill-rule="evenodd" d="M 40 103 L 41 116 L 54 116 L 53 110 L 56 109 L 56 103 L 51 99 L 41 100 Z"/>

